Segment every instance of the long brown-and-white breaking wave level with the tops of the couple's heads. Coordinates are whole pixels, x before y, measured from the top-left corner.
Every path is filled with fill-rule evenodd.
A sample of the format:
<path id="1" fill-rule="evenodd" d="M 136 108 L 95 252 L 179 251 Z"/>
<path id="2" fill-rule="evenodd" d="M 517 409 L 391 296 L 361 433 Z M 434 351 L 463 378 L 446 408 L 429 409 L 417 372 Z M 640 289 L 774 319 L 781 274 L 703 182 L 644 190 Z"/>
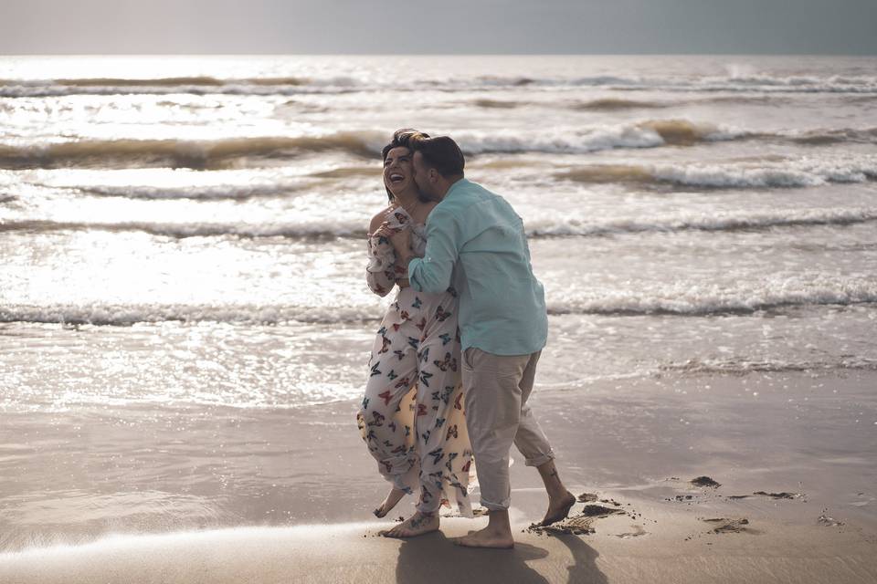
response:
<path id="1" fill-rule="evenodd" d="M 343 151 L 376 158 L 389 132 L 339 131 L 313 136 L 261 136 L 214 141 L 90 140 L 40 144 L 0 144 L 0 167 L 54 168 L 70 165 L 170 165 L 177 168 L 221 168 L 247 157 L 277 158 L 322 151 Z M 642 120 L 599 125 L 564 132 L 511 132 L 460 130 L 454 135 L 467 154 L 561 153 L 578 154 L 613 149 L 693 146 L 713 141 L 766 140 L 823 144 L 846 141 L 877 143 L 877 129 L 813 130 L 796 133 L 752 132 L 691 120 Z"/>

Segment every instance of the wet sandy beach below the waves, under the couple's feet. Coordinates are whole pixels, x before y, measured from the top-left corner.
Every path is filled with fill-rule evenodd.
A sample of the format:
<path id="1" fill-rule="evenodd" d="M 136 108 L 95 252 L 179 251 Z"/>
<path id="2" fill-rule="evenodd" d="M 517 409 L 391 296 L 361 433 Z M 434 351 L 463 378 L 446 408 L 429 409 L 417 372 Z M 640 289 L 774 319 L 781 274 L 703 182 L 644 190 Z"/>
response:
<path id="1" fill-rule="evenodd" d="M 30 480 L 4 484 L 0 580 L 332 582 L 365 575 L 381 582 L 413 578 L 417 566 L 445 574 L 443 563 L 459 568 L 460 578 L 482 564 L 500 570 L 485 572 L 485 581 L 502 581 L 491 579 L 497 574 L 537 582 L 877 579 L 875 384 L 870 370 L 671 372 L 537 388 L 534 413 L 565 483 L 596 499 L 578 503 L 572 515 L 585 505 L 622 513 L 579 520 L 574 527 L 587 527 L 582 535 L 528 530 L 544 513 L 544 491 L 512 450 L 519 545 L 511 556 L 448 541 L 483 517 L 444 517 L 443 535 L 405 543 L 373 537 L 392 523 L 370 516 L 386 483 L 355 432 L 353 401 L 281 412 L 174 412 L 151 422 L 136 412 L 137 423 L 122 430 L 116 414 L 56 412 L 51 425 L 38 412 L 18 412 L 6 416 L 0 443 L 26 443 L 33 427 L 45 450 L 19 449 L 11 463 L 0 458 Z M 165 435 L 184 420 L 185 433 Z M 74 436 L 89 443 L 90 435 L 112 438 L 112 455 L 132 456 L 131 466 L 107 474 L 100 453 L 83 453 L 75 464 L 65 461 L 74 475 L 47 470 L 58 461 L 53 445 Z M 211 441 L 224 448 L 205 452 Z M 164 465 L 158 478 L 144 470 L 154 464 Z M 172 481 L 174 468 L 190 474 Z M 132 479 L 132 469 L 141 474 Z M 692 485 L 700 476 L 720 485 Z M 40 491 L 53 477 L 57 490 Z M 111 485 L 100 485 L 108 492 L 98 496 L 92 491 L 100 478 Z M 412 506 L 407 497 L 389 517 L 407 516 Z M 59 543 L 68 545 L 53 547 Z M 504 558 L 502 569 L 512 571 L 483 562 L 487 556 Z"/>

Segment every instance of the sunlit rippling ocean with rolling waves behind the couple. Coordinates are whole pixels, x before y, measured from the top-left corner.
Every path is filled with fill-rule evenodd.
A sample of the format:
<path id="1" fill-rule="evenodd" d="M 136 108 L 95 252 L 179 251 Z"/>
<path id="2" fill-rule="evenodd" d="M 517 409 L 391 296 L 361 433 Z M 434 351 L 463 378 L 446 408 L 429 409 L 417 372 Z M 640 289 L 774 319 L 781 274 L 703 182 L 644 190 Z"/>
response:
<path id="1" fill-rule="evenodd" d="M 282 502 L 349 488 L 321 424 L 370 464 L 397 128 L 523 217 L 537 392 L 877 370 L 875 106 L 872 57 L 0 57 L 0 550 L 332 517 Z"/>

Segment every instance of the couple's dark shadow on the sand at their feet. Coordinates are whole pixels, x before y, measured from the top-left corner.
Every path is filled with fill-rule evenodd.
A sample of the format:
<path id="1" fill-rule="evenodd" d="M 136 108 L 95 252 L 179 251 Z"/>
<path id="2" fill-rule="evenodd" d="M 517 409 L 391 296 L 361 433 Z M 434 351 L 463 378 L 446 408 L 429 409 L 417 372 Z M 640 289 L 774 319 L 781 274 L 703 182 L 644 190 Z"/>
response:
<path id="1" fill-rule="evenodd" d="M 569 549 L 571 561 L 560 563 L 559 558 L 555 558 L 555 561 L 538 562 L 548 558 L 548 551 L 520 542 L 514 549 L 459 547 L 440 531 L 407 539 L 399 546 L 396 582 L 606 584 L 606 576 L 595 562 L 597 552 L 592 547 L 576 536 L 554 538 Z M 527 565 L 534 562 L 539 571 Z"/>

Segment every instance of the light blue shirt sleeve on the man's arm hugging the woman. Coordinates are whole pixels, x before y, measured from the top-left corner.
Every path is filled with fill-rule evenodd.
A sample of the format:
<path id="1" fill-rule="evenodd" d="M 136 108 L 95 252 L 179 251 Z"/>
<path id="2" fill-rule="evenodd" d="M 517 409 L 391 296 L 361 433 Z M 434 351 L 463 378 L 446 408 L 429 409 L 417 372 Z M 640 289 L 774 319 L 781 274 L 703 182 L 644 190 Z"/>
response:
<path id="1" fill-rule="evenodd" d="M 408 264 L 408 281 L 418 292 L 440 294 L 450 287 L 460 255 L 462 229 L 456 218 L 440 207 L 427 220 L 427 251 Z"/>

